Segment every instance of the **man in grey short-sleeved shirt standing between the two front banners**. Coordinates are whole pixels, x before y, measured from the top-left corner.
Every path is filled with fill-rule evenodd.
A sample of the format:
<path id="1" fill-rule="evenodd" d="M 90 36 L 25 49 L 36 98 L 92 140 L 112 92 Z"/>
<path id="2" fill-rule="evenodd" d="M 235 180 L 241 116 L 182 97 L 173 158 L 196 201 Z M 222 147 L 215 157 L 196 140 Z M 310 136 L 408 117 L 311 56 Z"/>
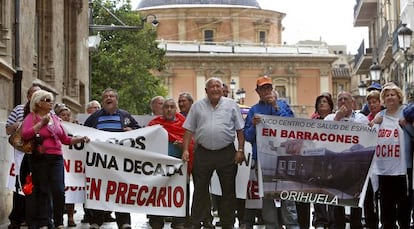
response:
<path id="1" fill-rule="evenodd" d="M 209 184 L 216 170 L 222 189 L 219 216 L 222 228 L 230 229 L 234 225 L 237 164 L 244 160 L 244 122 L 239 106 L 222 96 L 223 82 L 220 79 L 208 79 L 205 91 L 207 97 L 193 104 L 184 122 L 184 161 L 189 161 L 193 135 L 197 144 L 193 162 L 191 223 L 192 228 L 200 228 L 210 212 Z M 236 134 L 237 150 L 234 146 Z"/>

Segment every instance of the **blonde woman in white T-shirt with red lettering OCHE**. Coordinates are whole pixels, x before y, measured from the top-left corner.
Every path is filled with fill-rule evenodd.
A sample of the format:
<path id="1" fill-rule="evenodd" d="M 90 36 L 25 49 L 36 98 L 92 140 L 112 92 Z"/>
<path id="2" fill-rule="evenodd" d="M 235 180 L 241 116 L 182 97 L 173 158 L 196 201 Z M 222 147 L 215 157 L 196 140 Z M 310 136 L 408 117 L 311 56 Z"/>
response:
<path id="1" fill-rule="evenodd" d="M 383 228 L 410 228 L 408 168 L 412 168 L 409 144 L 403 125 L 403 96 L 394 83 L 384 85 L 381 101 L 386 109 L 377 113 L 378 143 L 372 162 L 372 174 L 378 176 L 381 224 Z M 379 119 L 378 119 L 379 118 Z M 401 124 L 401 125 L 400 125 Z M 375 190 L 374 190 L 375 191 Z"/>

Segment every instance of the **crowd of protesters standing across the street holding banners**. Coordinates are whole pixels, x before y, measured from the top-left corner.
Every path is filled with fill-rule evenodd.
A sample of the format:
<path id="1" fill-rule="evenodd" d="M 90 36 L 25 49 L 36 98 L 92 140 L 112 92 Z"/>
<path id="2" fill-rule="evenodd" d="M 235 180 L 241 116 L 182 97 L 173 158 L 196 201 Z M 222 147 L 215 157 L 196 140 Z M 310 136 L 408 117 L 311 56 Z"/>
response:
<path id="1" fill-rule="evenodd" d="M 362 178 L 366 181 L 362 182 L 365 184 L 363 192 L 357 196 L 364 200 L 359 206 L 264 195 L 259 207 L 254 207 L 236 195 L 238 166 L 246 161 L 245 144 L 251 144 L 252 150 L 249 169 L 253 174 L 250 176 L 261 176 L 258 128 L 264 123 L 263 117 L 292 119 L 295 116 L 289 104 L 278 98 L 270 77 L 258 77 L 251 90 L 257 92 L 258 102 L 245 117 L 239 105 L 227 98 L 227 86 L 218 78 L 207 79 L 206 97 L 198 101 L 188 92 L 181 93 L 177 100 L 162 96 L 151 100 L 153 119 L 147 126 L 162 126 L 168 135 L 168 156 L 187 164 L 187 174 L 183 174 L 186 182 L 182 184 L 182 189 L 187 191 L 184 216 L 147 214 L 149 227 L 165 228 L 165 222 L 171 221 L 174 229 L 216 226 L 252 229 L 257 224 L 266 229 L 345 229 L 347 223 L 351 229 L 413 228 L 414 106 L 403 104 L 402 91 L 397 85 L 373 83 L 368 88 L 367 104 L 361 111 L 355 109 L 350 92 L 339 92 L 336 101 L 330 93 L 322 93 L 315 98 L 315 111 L 309 117 L 312 121 L 357 123 L 376 130 L 376 142 L 370 153 L 372 163 L 366 179 Z M 90 115 L 83 126 L 128 133 L 144 128 L 130 113 L 118 107 L 119 99 L 122 98 L 116 90 L 103 91 L 100 102 L 94 100 L 87 104 L 86 111 Z M 19 132 L 23 140 L 34 142 L 30 152 L 14 150 L 17 176 L 9 229 L 76 226 L 74 203 L 65 201 L 68 187 L 65 186 L 62 145 L 92 144 L 93 136 L 68 135 L 62 122 L 76 123 L 70 108 L 65 104 L 54 105 L 53 94 L 36 85 L 29 88 L 27 102 L 15 107 L 9 115 L 7 134 Z M 299 153 L 295 151 L 294 154 Z M 221 195 L 211 193 L 214 172 L 219 179 Z M 133 178 L 129 181 L 133 182 Z M 192 193 L 189 192 L 190 181 L 194 185 Z M 243 189 L 248 190 L 248 187 Z M 351 206 L 349 215 L 345 205 Z M 213 222 L 213 213 L 219 221 Z M 64 214 L 67 214 L 66 223 Z M 122 229 L 132 228 L 130 212 L 84 206 L 82 223 L 88 223 L 89 228 L 100 228 L 105 222 L 116 222 Z"/>

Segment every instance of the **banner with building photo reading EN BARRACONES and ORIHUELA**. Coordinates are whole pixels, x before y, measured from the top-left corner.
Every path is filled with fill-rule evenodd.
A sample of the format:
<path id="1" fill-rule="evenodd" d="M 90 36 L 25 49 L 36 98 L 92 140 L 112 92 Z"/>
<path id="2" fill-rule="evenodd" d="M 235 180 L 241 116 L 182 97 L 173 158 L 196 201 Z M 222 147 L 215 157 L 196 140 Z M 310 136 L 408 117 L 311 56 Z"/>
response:
<path id="1" fill-rule="evenodd" d="M 358 206 L 377 144 L 366 124 L 261 115 L 265 198 Z"/>

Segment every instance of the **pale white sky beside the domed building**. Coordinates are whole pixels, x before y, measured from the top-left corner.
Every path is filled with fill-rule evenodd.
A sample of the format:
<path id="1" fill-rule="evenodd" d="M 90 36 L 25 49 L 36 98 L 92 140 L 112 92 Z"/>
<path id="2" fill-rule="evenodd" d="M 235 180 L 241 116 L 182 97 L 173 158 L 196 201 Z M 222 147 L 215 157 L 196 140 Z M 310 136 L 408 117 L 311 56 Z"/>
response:
<path id="1" fill-rule="evenodd" d="M 140 0 L 131 0 L 135 9 Z M 352 0 L 257 0 L 262 9 L 285 13 L 282 43 L 293 45 L 301 40 L 325 41 L 328 45 L 346 45 L 347 52 L 356 54 L 368 29 L 353 27 Z"/>

